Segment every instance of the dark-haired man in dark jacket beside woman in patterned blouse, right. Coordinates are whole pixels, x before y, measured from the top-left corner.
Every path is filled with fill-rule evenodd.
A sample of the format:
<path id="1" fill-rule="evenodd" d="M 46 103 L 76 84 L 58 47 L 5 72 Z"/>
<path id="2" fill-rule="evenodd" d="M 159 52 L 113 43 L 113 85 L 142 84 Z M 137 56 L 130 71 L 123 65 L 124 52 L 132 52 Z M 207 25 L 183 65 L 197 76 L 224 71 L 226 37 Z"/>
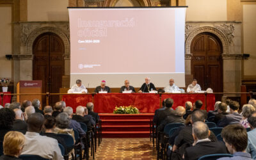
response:
<path id="1" fill-rule="evenodd" d="M 228 124 L 236 124 L 242 120 L 243 116 L 238 113 L 239 103 L 236 101 L 231 101 L 229 103 L 229 107 L 230 107 L 230 114 L 225 115 L 220 120 L 220 124 L 218 125 L 219 127 L 225 127 Z"/>

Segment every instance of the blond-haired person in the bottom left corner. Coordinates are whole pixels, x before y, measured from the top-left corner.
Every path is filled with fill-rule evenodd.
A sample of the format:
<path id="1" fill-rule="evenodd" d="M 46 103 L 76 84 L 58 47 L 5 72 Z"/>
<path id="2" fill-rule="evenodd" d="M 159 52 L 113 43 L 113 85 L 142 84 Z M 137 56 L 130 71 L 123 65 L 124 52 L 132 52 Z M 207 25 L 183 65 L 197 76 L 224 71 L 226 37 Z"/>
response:
<path id="1" fill-rule="evenodd" d="M 10 131 L 5 134 L 3 141 L 3 153 L 0 160 L 21 160 L 19 159 L 22 148 L 25 144 L 25 137 L 17 131 Z"/>

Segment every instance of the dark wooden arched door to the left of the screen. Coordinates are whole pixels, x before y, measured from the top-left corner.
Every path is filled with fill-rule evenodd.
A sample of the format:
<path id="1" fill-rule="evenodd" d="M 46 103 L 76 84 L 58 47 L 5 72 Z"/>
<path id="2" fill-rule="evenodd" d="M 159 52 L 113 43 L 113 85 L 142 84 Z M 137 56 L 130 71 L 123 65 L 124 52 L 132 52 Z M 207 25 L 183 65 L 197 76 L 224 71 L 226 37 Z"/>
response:
<path id="1" fill-rule="evenodd" d="M 59 93 L 64 75 L 65 52 L 63 41 L 54 33 L 43 33 L 33 43 L 33 80 L 42 80 L 42 92 Z M 59 96 L 51 96 L 49 104 L 54 105 Z M 43 97 L 43 106 L 46 99 Z"/>

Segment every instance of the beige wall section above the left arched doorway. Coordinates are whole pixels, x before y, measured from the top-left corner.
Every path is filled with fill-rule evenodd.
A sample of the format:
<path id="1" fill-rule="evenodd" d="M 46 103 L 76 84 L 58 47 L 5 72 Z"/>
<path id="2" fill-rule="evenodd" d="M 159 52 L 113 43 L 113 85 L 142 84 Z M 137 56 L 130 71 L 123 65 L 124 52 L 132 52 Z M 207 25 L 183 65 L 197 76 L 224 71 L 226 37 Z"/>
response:
<path id="1" fill-rule="evenodd" d="M 28 0 L 28 21 L 68 20 L 68 0 Z"/>

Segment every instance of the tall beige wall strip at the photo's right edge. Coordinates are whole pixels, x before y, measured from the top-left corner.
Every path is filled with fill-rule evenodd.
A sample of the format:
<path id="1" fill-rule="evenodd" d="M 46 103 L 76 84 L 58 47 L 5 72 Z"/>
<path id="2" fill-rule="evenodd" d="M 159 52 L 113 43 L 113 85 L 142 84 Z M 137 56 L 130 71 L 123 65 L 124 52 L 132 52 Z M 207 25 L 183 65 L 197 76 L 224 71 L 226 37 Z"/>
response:
<path id="1" fill-rule="evenodd" d="M 243 44 L 244 53 L 250 54 L 244 60 L 244 76 L 256 76 L 256 4 L 243 5 Z"/>

